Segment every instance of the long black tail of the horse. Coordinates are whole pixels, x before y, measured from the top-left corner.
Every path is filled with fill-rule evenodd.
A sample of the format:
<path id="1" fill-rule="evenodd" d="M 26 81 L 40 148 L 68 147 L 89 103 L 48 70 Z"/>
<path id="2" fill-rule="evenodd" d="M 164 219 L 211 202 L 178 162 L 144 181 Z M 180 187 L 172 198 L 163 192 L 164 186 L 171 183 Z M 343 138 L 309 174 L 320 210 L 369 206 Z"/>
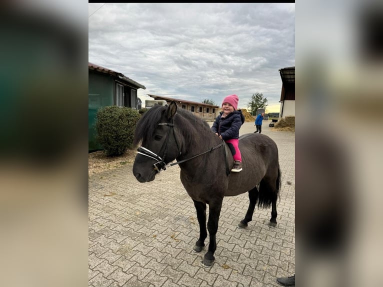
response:
<path id="1" fill-rule="evenodd" d="M 262 180 L 259 182 L 258 208 L 269 208 L 272 201 L 276 201 L 277 198 L 280 198 L 280 175 L 281 172 L 278 166 L 278 174 L 274 182 L 270 182 L 265 178 L 262 178 Z"/>

